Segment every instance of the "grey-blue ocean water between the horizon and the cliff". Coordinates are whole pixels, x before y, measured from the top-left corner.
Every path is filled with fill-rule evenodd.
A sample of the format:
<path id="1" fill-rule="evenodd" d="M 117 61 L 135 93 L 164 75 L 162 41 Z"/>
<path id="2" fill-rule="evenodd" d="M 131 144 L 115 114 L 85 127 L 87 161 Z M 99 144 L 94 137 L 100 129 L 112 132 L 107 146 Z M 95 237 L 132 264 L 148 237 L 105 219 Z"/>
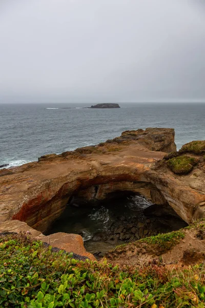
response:
<path id="1" fill-rule="evenodd" d="M 118 109 L 86 109 L 92 104 L 0 104 L 0 165 L 19 166 L 120 136 L 127 129 L 173 127 L 179 149 L 205 140 L 205 104 L 119 104 Z M 60 109 L 60 107 L 76 107 Z"/>

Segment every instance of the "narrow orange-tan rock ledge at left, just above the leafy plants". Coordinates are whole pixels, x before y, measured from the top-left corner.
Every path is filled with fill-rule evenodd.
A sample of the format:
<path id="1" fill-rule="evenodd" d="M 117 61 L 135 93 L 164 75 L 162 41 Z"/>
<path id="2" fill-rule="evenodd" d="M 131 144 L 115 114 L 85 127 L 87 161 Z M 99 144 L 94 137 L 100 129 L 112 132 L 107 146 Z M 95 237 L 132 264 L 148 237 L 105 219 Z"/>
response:
<path id="1" fill-rule="evenodd" d="M 58 232 L 48 236 L 43 235 L 41 232 L 29 227 L 25 222 L 12 220 L 5 221 L 0 224 L 0 233 L 15 232 L 15 233 L 28 233 L 35 240 L 40 240 L 44 243 L 57 247 L 68 253 L 72 252 L 79 256 L 84 256 L 92 261 L 95 261 L 95 257 L 88 253 L 84 247 L 83 238 L 77 234 L 67 234 Z"/>

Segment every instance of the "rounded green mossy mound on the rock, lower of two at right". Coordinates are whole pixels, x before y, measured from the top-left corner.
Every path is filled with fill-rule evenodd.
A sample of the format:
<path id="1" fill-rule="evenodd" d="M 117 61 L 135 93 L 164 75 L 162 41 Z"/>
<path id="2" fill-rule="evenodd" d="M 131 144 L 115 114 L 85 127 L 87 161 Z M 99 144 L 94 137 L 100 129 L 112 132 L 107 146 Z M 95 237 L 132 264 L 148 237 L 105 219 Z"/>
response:
<path id="1" fill-rule="evenodd" d="M 167 161 L 168 167 L 177 175 L 186 175 L 196 164 L 197 160 L 194 157 L 178 156 Z"/>

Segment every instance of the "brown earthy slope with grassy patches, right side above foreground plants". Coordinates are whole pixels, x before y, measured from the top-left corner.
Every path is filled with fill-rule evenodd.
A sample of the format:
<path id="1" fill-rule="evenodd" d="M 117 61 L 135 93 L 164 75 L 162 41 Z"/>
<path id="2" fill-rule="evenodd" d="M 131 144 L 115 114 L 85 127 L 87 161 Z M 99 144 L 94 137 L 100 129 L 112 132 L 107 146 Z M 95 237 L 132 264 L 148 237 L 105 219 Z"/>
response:
<path id="1" fill-rule="evenodd" d="M 198 221 L 189 228 L 176 232 L 159 234 L 153 241 L 152 239 L 146 238 L 116 247 L 106 254 L 107 262 L 126 266 L 142 266 L 142 264 L 184 266 L 203 263 L 205 260 L 204 221 Z"/>

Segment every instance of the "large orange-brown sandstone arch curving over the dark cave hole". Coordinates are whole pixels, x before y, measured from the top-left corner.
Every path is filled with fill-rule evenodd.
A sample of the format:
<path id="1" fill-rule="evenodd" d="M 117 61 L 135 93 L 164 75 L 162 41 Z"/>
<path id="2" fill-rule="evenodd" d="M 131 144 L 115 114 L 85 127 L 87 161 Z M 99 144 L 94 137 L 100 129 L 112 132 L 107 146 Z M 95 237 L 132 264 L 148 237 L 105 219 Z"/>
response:
<path id="1" fill-rule="evenodd" d="M 0 177 L 0 222 L 25 221 L 45 232 L 72 198 L 96 202 L 125 190 L 158 205 L 168 202 L 187 223 L 205 217 L 204 163 L 175 175 L 160 165 L 171 151 L 174 129 L 147 128 L 13 168 Z"/>

